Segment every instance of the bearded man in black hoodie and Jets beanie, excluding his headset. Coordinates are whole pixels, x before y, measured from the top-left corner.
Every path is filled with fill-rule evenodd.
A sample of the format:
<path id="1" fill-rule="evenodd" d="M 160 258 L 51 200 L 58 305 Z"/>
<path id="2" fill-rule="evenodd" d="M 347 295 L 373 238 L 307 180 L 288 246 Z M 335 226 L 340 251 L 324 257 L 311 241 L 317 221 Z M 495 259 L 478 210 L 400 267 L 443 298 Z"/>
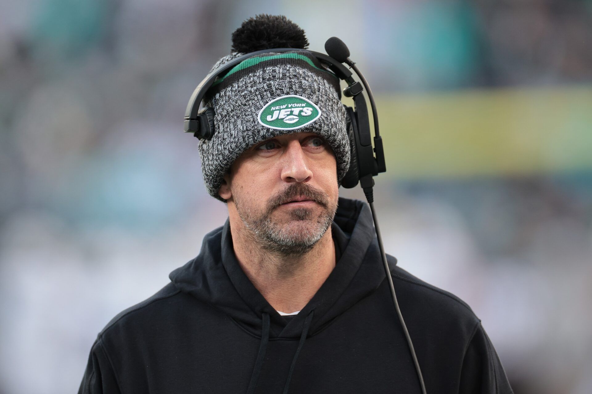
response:
<path id="1" fill-rule="evenodd" d="M 285 17 L 259 15 L 214 69 L 260 49 L 255 41 L 307 44 Z M 215 133 L 200 141 L 202 172 L 229 219 L 168 285 L 99 333 L 79 393 L 421 392 L 370 209 L 339 198 L 350 159 L 339 80 L 304 51 L 270 52 L 208 94 Z M 271 127 L 282 115 L 296 122 L 285 108 L 318 116 Z M 396 262 L 388 256 L 427 392 L 511 393 L 468 305 Z"/>

